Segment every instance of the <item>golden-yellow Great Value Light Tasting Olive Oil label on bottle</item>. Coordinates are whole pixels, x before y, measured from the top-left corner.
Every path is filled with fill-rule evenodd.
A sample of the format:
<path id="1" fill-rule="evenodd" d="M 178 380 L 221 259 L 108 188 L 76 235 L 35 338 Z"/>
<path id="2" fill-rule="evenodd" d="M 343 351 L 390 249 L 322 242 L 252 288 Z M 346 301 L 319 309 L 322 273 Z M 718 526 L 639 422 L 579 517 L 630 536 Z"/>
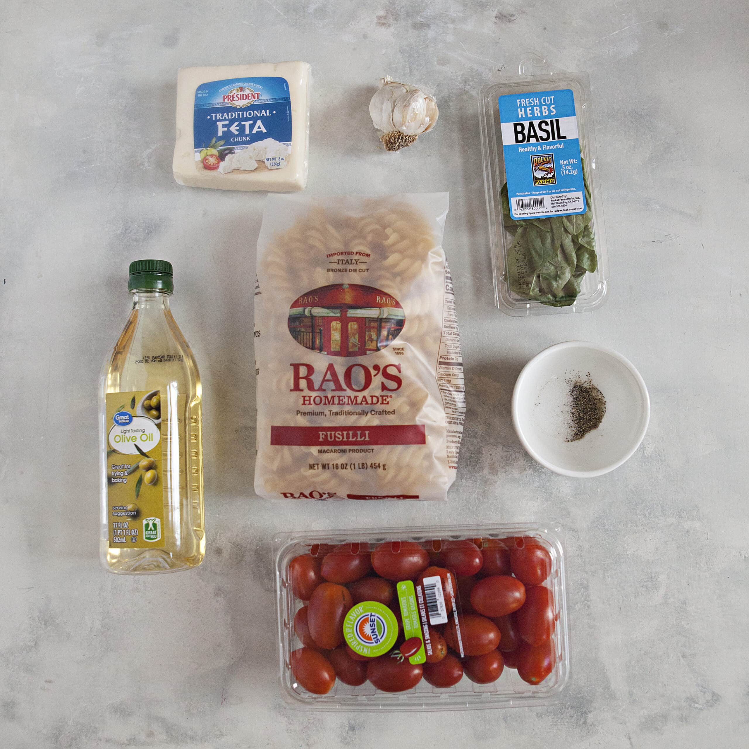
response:
<path id="1" fill-rule="evenodd" d="M 106 395 L 106 481 L 109 548 L 163 547 L 162 423 L 169 418 L 160 390 Z"/>

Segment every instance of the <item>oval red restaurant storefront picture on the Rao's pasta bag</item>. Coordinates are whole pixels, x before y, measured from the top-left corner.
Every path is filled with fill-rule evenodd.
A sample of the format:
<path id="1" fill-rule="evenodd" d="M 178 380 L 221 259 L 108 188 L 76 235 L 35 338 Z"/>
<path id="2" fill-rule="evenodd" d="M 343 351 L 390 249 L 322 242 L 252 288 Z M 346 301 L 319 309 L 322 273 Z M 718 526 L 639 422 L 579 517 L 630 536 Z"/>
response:
<path id="1" fill-rule="evenodd" d="M 291 305 L 294 340 L 331 357 L 362 357 L 385 348 L 403 330 L 398 301 L 372 286 L 333 284 L 308 291 Z"/>

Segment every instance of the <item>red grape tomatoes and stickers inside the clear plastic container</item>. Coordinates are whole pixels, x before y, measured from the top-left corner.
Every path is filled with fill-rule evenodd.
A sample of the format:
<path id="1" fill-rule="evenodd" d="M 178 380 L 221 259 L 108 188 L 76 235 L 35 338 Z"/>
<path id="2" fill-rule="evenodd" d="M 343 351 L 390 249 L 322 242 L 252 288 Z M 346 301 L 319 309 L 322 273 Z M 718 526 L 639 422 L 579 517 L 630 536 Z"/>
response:
<path id="1" fill-rule="evenodd" d="M 557 664 L 551 568 L 533 536 L 312 545 L 285 575 L 302 602 L 294 688 L 441 689 L 463 676 L 491 684 L 506 667 L 539 685 Z"/>

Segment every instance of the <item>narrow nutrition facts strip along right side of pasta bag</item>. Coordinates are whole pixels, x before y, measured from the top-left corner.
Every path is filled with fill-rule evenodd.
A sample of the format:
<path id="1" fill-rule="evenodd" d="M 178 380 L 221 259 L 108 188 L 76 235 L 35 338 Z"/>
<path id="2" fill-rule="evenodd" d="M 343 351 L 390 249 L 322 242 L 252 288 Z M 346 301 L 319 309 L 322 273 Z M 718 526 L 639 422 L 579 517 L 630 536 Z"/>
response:
<path id="1" fill-rule="evenodd" d="M 445 266 L 445 300 L 442 311 L 442 338 L 437 354 L 437 385 L 445 404 L 447 424 L 447 462 L 457 469 L 465 419 L 466 396 L 463 377 L 461 338 L 458 333 L 458 316 L 455 314 L 455 294 L 452 276 Z"/>

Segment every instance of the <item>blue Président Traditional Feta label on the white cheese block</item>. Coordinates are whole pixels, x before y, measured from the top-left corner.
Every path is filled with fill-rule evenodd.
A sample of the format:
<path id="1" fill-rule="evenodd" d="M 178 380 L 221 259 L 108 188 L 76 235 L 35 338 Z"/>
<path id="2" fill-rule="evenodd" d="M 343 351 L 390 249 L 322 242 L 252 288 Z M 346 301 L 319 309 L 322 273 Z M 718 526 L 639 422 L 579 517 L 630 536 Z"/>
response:
<path id="1" fill-rule="evenodd" d="M 203 83 L 195 90 L 194 115 L 195 161 L 205 169 L 224 173 L 219 166 L 229 155 L 234 155 L 234 169 L 255 169 L 251 166 L 255 160 L 264 161 L 268 169 L 285 166 L 291 147 L 291 96 L 285 78 Z M 262 146 L 252 151 L 247 148 L 255 144 Z M 239 160 L 236 154 L 245 150 Z"/>

